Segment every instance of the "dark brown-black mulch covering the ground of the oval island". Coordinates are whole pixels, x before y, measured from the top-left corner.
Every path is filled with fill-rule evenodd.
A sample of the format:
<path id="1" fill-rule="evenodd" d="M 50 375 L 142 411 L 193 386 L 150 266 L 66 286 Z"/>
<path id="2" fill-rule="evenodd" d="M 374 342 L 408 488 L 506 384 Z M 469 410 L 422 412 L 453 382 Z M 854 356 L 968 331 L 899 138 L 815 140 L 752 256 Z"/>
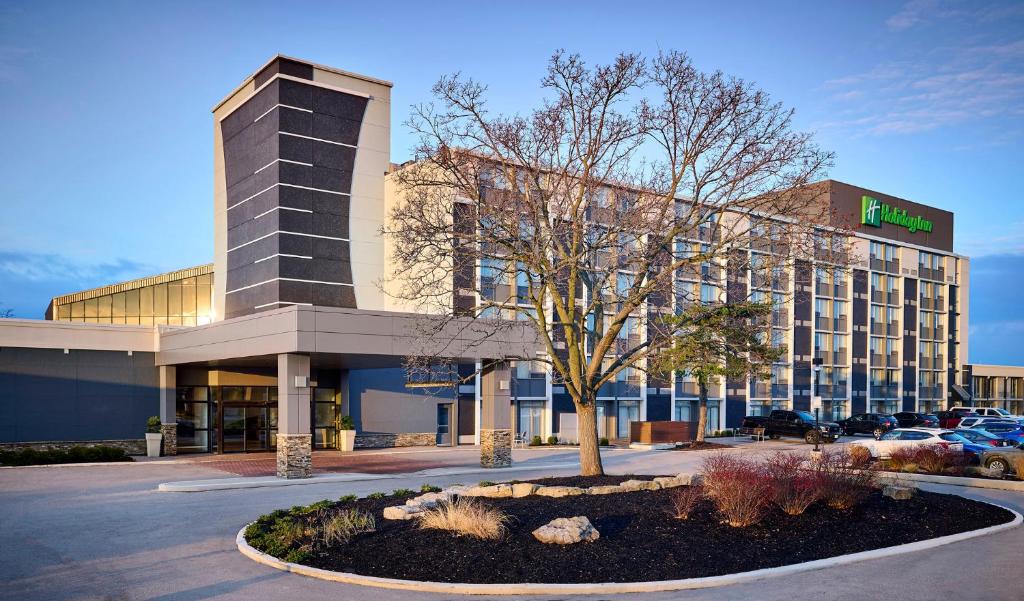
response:
<path id="1" fill-rule="evenodd" d="M 629 476 L 545 478 L 545 484 L 594 485 Z M 377 531 L 313 555 L 309 565 L 365 575 L 452 583 L 601 583 L 663 581 L 750 571 L 902 545 L 1005 523 L 1013 515 L 963 497 L 919 491 L 909 501 L 876 492 L 849 511 L 815 504 L 801 516 L 777 509 L 746 528 L 720 523 L 702 502 L 688 520 L 669 514 L 672 489 L 561 499 L 480 499 L 508 514 L 510 533 L 479 541 L 383 519 L 402 500 L 362 499 Z M 558 517 L 585 515 L 594 543 L 544 545 L 530 533 Z"/>

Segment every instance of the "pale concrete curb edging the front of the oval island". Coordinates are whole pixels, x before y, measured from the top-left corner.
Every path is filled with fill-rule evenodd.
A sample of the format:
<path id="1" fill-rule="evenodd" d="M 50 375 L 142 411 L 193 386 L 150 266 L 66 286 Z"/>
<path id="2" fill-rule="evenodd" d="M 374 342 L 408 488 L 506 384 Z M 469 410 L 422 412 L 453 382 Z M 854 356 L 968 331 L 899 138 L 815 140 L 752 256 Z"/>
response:
<path id="1" fill-rule="evenodd" d="M 978 502 L 988 503 L 985 501 L 978 501 Z M 861 551 L 859 553 L 851 553 L 849 555 L 839 555 L 836 557 L 827 557 L 825 559 L 816 559 L 814 561 L 807 561 L 804 563 L 794 563 L 791 565 L 783 565 L 779 567 L 767 567 L 753 571 L 744 571 L 733 574 L 723 574 L 718 576 L 683 578 L 677 581 L 653 581 L 646 583 L 600 583 L 600 584 L 431 583 L 431 582 L 419 582 L 419 581 L 401 581 L 397 578 L 383 578 L 379 576 L 365 576 L 354 573 L 331 571 L 327 569 L 319 569 L 316 567 L 309 567 L 307 565 L 300 565 L 297 563 L 289 563 L 286 561 L 282 561 L 276 557 L 267 555 L 261 551 L 254 549 L 249 545 L 249 543 L 246 542 L 246 528 L 248 528 L 252 522 L 250 522 L 250 524 L 246 524 L 245 526 L 242 527 L 241 530 L 239 530 L 239 533 L 234 538 L 234 544 L 243 555 L 267 567 L 272 567 L 274 569 L 293 572 L 304 576 L 319 578 L 322 581 L 330 581 L 346 585 L 359 585 L 364 587 L 376 587 L 380 589 L 391 589 L 398 591 L 417 591 L 422 593 L 445 593 L 450 595 L 556 595 L 556 594 L 614 595 L 623 593 L 659 593 L 666 591 L 710 589 L 714 587 L 724 587 L 727 585 L 738 585 L 741 583 L 749 583 L 752 581 L 758 581 L 767 577 L 775 577 L 775 576 L 787 575 L 804 571 L 824 569 L 826 567 L 846 565 L 850 563 L 856 563 L 859 561 L 866 561 L 869 559 L 881 559 L 884 557 L 891 557 L 894 555 L 902 555 L 904 553 L 913 553 L 915 551 L 934 549 L 936 547 L 949 545 L 950 543 L 958 543 L 961 541 L 967 541 L 969 539 L 974 539 L 977 536 L 994 534 L 995 532 L 1008 530 L 1010 528 L 1015 528 L 1019 526 L 1022 521 L 1024 521 L 1024 517 L 1022 517 L 1020 513 L 1014 511 L 1013 509 L 1010 509 L 1009 507 L 1004 507 L 995 503 L 988 503 L 988 505 L 992 505 L 1009 511 L 1010 513 L 1014 514 L 1014 519 L 1005 524 L 988 526 L 986 528 L 981 528 L 978 530 L 970 530 L 967 532 L 959 532 L 957 534 L 948 534 L 945 536 L 939 536 L 937 539 L 929 539 L 927 541 L 919 541 L 916 543 L 907 543 L 906 545 L 897 545 L 896 547 L 885 547 L 882 549 L 873 549 L 871 551 Z"/>

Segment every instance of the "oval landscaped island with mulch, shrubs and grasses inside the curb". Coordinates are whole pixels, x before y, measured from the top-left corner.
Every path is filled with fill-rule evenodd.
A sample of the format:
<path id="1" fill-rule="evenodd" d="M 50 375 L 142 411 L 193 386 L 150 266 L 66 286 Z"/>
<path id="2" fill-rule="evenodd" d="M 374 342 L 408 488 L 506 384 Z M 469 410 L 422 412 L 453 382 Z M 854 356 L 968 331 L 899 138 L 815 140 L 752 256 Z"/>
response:
<path id="1" fill-rule="evenodd" d="M 802 563 L 1014 519 L 962 497 L 880 489 L 873 472 L 855 463 L 841 452 L 815 464 L 785 454 L 767 462 L 721 454 L 698 475 L 656 480 L 484 482 L 452 497 L 425 486 L 278 511 L 250 525 L 246 539 L 285 561 L 387 578 L 627 583 Z M 407 505 L 413 499 L 423 503 Z M 409 515 L 399 508 L 411 508 Z M 578 517 L 596 532 L 585 525 L 582 542 L 539 540 L 553 520 Z"/>

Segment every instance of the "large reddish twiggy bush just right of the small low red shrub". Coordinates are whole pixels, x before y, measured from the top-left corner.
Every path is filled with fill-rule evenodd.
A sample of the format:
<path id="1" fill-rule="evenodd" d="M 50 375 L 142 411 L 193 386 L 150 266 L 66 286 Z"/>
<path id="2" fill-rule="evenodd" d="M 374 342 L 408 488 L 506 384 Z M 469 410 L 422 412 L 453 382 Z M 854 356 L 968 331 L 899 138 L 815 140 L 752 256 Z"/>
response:
<path id="1" fill-rule="evenodd" d="M 719 454 L 705 459 L 703 488 L 730 526 L 756 524 L 771 498 L 771 482 L 755 460 Z"/>

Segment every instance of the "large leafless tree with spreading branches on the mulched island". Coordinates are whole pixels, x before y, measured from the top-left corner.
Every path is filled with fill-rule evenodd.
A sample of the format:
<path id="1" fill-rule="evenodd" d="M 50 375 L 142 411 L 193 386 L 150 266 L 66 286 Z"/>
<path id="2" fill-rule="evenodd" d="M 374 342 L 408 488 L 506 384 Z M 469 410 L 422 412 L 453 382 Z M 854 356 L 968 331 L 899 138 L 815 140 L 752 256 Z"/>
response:
<path id="1" fill-rule="evenodd" d="M 531 324 L 546 352 L 520 358 L 565 387 L 582 473 L 601 474 L 599 393 L 637 385 L 671 343 L 664 317 L 724 297 L 752 240 L 778 264 L 812 255 L 828 220 L 807 184 L 833 156 L 765 92 L 679 52 L 592 68 L 558 51 L 541 84 L 549 97 L 525 116 L 493 115 L 486 88 L 459 75 L 414 108 L 415 161 L 390 178 L 386 289 L 488 332 Z"/>

